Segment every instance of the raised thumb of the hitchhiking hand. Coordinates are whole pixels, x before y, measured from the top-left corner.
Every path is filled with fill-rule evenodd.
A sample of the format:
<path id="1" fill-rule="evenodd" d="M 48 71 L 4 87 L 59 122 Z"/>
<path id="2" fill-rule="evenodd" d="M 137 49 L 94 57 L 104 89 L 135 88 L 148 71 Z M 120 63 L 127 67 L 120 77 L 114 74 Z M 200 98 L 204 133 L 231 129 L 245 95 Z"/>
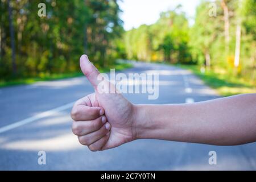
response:
<path id="1" fill-rule="evenodd" d="M 80 57 L 80 68 L 82 73 L 88 78 L 90 83 L 93 85 L 94 89 L 97 89 L 97 85 L 100 80 L 97 79 L 100 72 L 97 68 L 94 67 L 92 63 L 90 63 L 88 56 L 82 55 Z"/>

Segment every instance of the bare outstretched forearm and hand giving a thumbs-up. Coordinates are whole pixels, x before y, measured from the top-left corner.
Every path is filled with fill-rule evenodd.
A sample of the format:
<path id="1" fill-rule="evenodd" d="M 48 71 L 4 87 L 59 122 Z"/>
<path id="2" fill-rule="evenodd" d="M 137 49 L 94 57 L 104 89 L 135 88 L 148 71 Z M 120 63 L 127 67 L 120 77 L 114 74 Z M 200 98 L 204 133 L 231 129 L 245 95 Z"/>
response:
<path id="1" fill-rule="evenodd" d="M 86 55 L 80 66 L 95 92 L 71 111 L 72 131 L 91 151 L 136 139 L 163 139 L 214 145 L 256 141 L 256 94 L 241 94 L 194 104 L 134 105 L 122 94 L 100 93 L 100 74 Z"/>

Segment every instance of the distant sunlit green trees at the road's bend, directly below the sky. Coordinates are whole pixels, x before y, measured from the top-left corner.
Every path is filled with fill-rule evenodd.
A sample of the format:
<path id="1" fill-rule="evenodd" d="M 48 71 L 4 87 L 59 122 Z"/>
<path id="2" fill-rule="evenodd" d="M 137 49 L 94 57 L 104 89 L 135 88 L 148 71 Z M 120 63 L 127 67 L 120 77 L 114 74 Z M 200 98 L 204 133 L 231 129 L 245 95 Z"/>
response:
<path id="1" fill-rule="evenodd" d="M 183 12 L 167 11 L 150 26 L 142 25 L 124 36 L 128 59 L 190 63 L 188 20 Z"/>

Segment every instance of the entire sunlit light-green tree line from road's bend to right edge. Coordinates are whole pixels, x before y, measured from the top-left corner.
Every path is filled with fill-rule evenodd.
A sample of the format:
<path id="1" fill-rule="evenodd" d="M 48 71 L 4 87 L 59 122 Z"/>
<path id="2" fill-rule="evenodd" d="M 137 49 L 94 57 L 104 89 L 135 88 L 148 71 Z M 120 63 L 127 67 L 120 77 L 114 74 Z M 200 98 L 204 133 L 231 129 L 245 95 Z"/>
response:
<path id="1" fill-rule="evenodd" d="M 228 11 L 224 11 L 225 8 Z M 216 16 L 209 14 L 212 10 Z M 127 58 L 197 63 L 212 72 L 223 69 L 227 78 L 242 77 L 244 81 L 256 84 L 256 1 L 204 0 L 197 7 L 194 20 L 189 27 L 186 16 L 177 7 L 160 14 L 154 24 L 127 31 L 123 38 Z M 239 26 L 240 61 L 236 66 Z"/>

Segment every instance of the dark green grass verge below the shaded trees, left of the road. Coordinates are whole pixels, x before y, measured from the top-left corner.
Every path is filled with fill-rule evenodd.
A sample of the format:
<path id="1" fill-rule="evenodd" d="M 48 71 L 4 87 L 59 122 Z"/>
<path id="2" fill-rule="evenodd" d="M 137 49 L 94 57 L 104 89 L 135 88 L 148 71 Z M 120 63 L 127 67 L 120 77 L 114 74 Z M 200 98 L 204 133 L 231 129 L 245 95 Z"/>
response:
<path id="1" fill-rule="evenodd" d="M 127 69 L 133 67 L 131 64 L 127 63 L 116 63 L 108 68 L 99 68 L 100 72 L 109 72 L 110 68 L 114 68 L 116 71 L 121 71 L 122 69 Z M 50 80 L 60 80 L 64 78 L 72 78 L 82 76 L 82 72 L 72 72 L 72 73 L 53 73 L 51 75 L 42 75 L 40 77 L 28 77 L 28 78 L 15 78 L 9 80 L 0 80 L 0 88 L 5 86 L 14 85 L 28 85 L 33 84 L 37 81 L 50 81 Z"/>

